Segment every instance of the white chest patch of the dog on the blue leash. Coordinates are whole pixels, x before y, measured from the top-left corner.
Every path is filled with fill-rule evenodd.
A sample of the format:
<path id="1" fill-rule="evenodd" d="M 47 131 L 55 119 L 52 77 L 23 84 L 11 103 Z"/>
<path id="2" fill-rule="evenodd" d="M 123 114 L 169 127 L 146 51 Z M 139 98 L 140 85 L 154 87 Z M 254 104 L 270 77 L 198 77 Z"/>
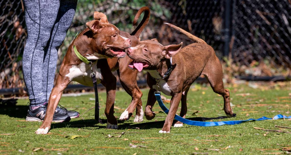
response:
<path id="1" fill-rule="evenodd" d="M 156 70 L 145 70 L 145 71 L 150 73 L 150 75 L 156 79 L 162 78 L 161 75 L 159 74 L 159 72 Z M 172 92 L 171 88 L 169 87 L 169 85 L 167 84 L 167 82 L 165 80 L 162 80 L 162 79 L 159 80 L 159 84 L 160 84 L 159 91 L 162 91 L 162 93 L 164 93 L 165 95 L 172 96 L 171 95 L 171 92 Z M 157 85 L 153 85 L 152 89 L 158 90 Z"/>

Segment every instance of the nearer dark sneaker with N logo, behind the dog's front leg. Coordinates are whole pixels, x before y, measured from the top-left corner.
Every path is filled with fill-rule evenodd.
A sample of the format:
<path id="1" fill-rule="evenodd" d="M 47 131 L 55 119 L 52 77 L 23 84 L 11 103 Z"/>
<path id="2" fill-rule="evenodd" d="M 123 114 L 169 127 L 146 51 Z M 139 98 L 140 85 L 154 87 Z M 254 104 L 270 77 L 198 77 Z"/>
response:
<path id="1" fill-rule="evenodd" d="M 45 113 L 47 111 L 47 103 L 40 106 L 39 108 L 32 110 L 29 106 L 26 121 L 43 121 L 45 119 Z M 61 110 L 56 110 L 53 117 L 53 122 L 64 122 L 70 121 L 69 115 L 64 114 Z"/>

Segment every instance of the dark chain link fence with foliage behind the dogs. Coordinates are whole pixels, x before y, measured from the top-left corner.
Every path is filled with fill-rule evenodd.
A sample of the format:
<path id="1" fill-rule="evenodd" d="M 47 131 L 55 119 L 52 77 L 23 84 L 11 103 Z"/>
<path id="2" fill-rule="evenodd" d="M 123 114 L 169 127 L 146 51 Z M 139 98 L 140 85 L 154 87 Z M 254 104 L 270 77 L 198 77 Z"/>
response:
<path id="1" fill-rule="evenodd" d="M 20 0 L 0 1 L 0 89 L 23 88 L 22 53 L 27 35 L 23 8 Z M 157 38 L 163 45 L 193 43 L 163 24 L 169 22 L 211 45 L 232 76 L 290 75 L 290 0 L 79 0 L 58 51 L 57 70 L 76 33 L 93 20 L 94 11 L 107 15 L 120 30 L 132 32 L 134 16 L 142 6 L 149 6 L 151 17 L 141 40 Z M 144 78 L 139 73 L 138 80 Z"/>

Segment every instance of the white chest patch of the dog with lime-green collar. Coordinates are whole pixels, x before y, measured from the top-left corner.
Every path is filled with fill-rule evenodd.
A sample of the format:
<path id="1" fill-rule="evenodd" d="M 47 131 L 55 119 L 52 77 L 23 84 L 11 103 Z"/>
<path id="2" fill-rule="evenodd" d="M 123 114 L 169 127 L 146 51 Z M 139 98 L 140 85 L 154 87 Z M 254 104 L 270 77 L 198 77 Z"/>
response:
<path id="1" fill-rule="evenodd" d="M 96 73 L 97 83 L 101 82 L 102 75 L 100 68 L 97 68 L 97 61 L 92 64 L 93 71 Z M 90 77 L 91 69 L 90 66 L 81 62 L 79 65 L 73 65 L 69 69 L 69 73 L 66 75 L 70 78 L 70 81 L 76 81 L 85 86 L 93 86 L 92 79 Z"/>

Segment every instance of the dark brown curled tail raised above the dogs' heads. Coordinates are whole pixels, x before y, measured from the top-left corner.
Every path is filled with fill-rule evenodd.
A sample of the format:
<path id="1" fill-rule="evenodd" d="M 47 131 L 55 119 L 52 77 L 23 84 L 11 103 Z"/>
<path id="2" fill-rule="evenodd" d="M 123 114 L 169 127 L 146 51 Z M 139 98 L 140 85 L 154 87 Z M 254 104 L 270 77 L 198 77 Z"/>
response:
<path id="1" fill-rule="evenodd" d="M 148 24 L 148 21 L 150 20 L 150 8 L 148 8 L 147 6 L 141 7 L 134 17 L 133 26 L 137 24 L 137 20 L 139 19 L 139 16 L 141 16 L 141 13 L 143 12 L 144 12 L 143 19 L 136 27 L 136 29 L 130 34 L 132 36 L 136 36 L 137 38 L 139 38 L 141 32 L 143 31 L 145 26 Z"/>

